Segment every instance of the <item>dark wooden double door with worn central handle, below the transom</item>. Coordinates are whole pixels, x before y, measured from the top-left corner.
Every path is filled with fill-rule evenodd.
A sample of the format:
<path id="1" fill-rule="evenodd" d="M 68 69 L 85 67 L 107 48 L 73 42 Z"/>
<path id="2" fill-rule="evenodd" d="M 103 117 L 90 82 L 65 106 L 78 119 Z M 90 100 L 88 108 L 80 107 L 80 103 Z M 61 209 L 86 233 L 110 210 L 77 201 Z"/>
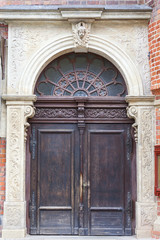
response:
<path id="1" fill-rule="evenodd" d="M 30 234 L 131 235 L 131 124 L 31 127 Z"/>

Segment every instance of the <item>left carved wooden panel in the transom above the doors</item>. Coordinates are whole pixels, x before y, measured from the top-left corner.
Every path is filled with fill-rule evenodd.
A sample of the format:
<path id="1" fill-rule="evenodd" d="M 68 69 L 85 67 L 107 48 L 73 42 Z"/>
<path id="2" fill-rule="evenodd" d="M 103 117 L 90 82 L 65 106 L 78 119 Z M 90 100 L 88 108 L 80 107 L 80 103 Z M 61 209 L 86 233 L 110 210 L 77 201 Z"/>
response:
<path id="1" fill-rule="evenodd" d="M 37 108 L 35 118 L 76 118 L 77 109 L 71 108 Z"/>

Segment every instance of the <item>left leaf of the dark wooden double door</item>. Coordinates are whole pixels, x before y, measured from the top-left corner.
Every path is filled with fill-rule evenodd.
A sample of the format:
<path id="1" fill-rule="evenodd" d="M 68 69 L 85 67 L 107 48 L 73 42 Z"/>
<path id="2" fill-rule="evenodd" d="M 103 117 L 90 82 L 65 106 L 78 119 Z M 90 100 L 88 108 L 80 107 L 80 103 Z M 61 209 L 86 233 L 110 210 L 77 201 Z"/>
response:
<path id="1" fill-rule="evenodd" d="M 41 124 L 36 128 L 37 233 L 74 234 L 78 225 L 74 199 L 79 184 L 74 177 L 75 159 L 79 156 L 76 125 Z"/>

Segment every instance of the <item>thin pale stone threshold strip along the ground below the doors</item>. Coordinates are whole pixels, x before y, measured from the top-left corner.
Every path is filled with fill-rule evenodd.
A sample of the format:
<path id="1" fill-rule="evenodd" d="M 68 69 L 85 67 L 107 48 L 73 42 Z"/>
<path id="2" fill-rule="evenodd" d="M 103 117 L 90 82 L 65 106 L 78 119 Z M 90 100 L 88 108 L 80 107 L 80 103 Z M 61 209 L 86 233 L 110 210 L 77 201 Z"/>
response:
<path id="1" fill-rule="evenodd" d="M 0 240 L 135 240 L 136 236 L 30 236 L 25 238 L 0 238 Z M 152 238 L 138 238 L 139 240 L 153 240 Z"/>

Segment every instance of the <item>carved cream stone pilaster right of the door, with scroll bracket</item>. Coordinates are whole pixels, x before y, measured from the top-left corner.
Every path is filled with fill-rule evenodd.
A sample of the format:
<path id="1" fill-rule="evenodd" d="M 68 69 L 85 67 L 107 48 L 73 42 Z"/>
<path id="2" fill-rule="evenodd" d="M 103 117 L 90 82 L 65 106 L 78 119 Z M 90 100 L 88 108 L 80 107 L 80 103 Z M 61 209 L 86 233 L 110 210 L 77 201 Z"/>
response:
<path id="1" fill-rule="evenodd" d="M 133 100 L 133 99 L 132 99 Z M 154 199 L 154 139 L 155 111 L 153 102 L 144 99 L 131 101 L 128 115 L 135 119 L 137 126 L 137 238 L 151 236 L 156 219 Z M 134 115 L 132 114 L 134 113 Z"/>

